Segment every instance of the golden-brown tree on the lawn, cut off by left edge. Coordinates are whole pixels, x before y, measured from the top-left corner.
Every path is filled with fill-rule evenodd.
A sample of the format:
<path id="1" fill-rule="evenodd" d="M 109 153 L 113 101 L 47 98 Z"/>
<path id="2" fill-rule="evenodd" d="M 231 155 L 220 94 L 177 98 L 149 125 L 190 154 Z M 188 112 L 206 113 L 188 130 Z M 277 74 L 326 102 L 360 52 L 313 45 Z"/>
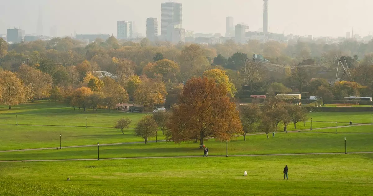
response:
<path id="1" fill-rule="evenodd" d="M 13 72 L 0 71 L 0 88 L 1 102 L 9 105 L 9 109 L 12 109 L 12 105 L 24 103 L 29 98 L 28 88 Z"/>

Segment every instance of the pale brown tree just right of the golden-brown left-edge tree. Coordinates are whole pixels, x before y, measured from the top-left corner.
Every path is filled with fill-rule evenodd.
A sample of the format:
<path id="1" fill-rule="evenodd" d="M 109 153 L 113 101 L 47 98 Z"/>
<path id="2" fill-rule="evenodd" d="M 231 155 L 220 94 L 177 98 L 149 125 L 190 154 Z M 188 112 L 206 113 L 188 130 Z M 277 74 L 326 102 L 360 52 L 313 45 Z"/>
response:
<path id="1" fill-rule="evenodd" d="M 21 65 L 18 75 L 29 90 L 31 102 L 50 96 L 52 77 L 49 74 L 28 65 Z"/>

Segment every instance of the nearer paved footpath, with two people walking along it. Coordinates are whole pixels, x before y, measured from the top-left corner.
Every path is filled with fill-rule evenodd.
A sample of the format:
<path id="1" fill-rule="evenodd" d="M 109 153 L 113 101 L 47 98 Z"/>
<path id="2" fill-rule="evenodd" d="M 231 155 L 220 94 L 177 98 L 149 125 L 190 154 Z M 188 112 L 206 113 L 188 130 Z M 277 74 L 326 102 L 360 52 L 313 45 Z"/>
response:
<path id="1" fill-rule="evenodd" d="M 372 154 L 373 152 L 349 152 L 347 154 Z M 251 157 L 251 156 L 297 156 L 297 155 L 340 155 L 344 152 L 331 153 L 295 153 L 295 154 L 269 154 L 269 155 L 229 155 L 228 157 Z M 210 157 L 225 157 L 226 155 L 210 155 Z M 128 157 L 128 158 L 108 158 L 104 160 L 122 159 L 167 159 L 167 158 L 198 158 L 202 156 L 157 156 L 157 157 Z M 56 160 L 20 160 L 20 161 L 0 161 L 0 162 L 46 162 L 46 161 L 97 161 L 97 159 L 56 159 Z"/>

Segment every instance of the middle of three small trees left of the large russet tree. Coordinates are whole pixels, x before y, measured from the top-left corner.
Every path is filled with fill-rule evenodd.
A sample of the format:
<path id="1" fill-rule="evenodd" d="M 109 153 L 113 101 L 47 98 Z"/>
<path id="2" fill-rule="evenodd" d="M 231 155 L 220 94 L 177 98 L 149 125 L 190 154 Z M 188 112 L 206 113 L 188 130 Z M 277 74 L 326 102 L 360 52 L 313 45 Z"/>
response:
<path id="1" fill-rule="evenodd" d="M 144 139 L 145 144 L 148 143 L 148 137 L 156 135 L 157 122 L 154 121 L 151 115 L 146 115 L 136 124 L 135 136 L 140 136 Z"/>

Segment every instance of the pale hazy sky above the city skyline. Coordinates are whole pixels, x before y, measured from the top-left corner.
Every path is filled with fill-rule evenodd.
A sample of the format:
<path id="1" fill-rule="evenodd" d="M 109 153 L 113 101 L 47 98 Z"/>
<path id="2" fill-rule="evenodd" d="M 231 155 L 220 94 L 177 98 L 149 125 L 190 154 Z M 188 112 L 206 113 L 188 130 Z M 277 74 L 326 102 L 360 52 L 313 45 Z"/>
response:
<path id="1" fill-rule="evenodd" d="M 145 35 L 146 18 L 158 18 L 161 3 L 169 0 L 2 0 L 0 33 L 21 27 L 37 31 L 38 7 L 43 14 L 44 34 L 58 27 L 57 35 L 114 34 L 116 21 L 135 22 Z M 174 0 L 175 2 L 176 0 Z M 226 17 L 246 23 L 250 30 L 262 27 L 263 0 L 178 0 L 183 4 L 183 28 L 195 33 L 225 34 Z M 269 0 L 269 31 L 314 36 L 345 36 L 373 32 L 370 22 L 373 0 Z"/>

